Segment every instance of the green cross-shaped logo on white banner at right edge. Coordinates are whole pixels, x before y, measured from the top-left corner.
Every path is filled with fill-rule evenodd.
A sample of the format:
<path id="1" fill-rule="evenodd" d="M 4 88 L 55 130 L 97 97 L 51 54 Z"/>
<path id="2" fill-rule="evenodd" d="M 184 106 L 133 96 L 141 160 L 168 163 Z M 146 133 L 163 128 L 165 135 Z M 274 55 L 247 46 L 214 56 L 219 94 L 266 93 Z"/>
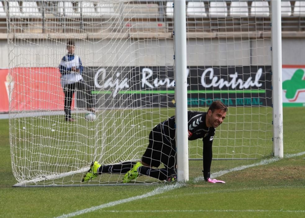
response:
<path id="1" fill-rule="evenodd" d="M 304 70 L 298 69 L 294 72 L 290 80 L 283 82 L 283 90 L 286 90 L 285 97 L 288 100 L 294 100 L 298 97 L 298 93 L 305 91 Z"/>

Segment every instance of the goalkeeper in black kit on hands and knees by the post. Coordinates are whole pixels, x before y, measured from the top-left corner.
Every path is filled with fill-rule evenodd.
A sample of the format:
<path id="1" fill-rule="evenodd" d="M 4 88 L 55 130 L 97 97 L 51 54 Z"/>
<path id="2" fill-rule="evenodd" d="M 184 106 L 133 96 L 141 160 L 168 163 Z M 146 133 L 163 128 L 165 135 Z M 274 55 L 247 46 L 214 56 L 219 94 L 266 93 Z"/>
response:
<path id="1" fill-rule="evenodd" d="M 203 177 L 208 182 L 222 182 L 210 178 L 212 163 L 212 143 L 215 128 L 225 119 L 228 108 L 220 101 L 212 102 L 207 112 L 188 111 L 188 139 L 203 140 Z M 161 122 L 149 134 L 149 144 L 141 162 L 123 162 L 101 165 L 92 162 L 82 182 L 87 182 L 103 173 L 125 174 L 123 183 L 137 179 L 141 175 L 168 182 L 176 180 L 175 116 Z M 160 164 L 164 168 L 158 168 Z"/>

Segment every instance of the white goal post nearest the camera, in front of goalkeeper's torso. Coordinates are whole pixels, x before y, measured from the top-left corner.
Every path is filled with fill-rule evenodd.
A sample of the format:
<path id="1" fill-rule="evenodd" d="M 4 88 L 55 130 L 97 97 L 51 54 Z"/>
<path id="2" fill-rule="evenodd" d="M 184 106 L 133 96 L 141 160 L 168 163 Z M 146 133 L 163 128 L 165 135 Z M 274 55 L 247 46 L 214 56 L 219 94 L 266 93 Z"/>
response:
<path id="1" fill-rule="evenodd" d="M 186 6 L 185 1 L 174 1 L 175 42 L 175 121 L 177 148 L 177 180 L 189 180 L 187 64 L 186 64 Z"/>

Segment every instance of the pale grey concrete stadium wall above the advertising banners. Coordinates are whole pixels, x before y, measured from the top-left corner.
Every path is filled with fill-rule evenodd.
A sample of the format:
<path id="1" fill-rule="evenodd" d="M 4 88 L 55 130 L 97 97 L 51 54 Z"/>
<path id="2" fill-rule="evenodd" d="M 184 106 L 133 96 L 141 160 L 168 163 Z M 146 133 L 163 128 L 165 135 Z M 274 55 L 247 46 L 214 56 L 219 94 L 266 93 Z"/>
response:
<path id="1" fill-rule="evenodd" d="M 10 45 L 0 40 L 0 68 L 57 67 L 66 54 L 64 40 L 19 40 Z M 271 65 L 270 40 L 188 39 L 188 65 Z M 305 38 L 282 40 L 283 64 L 305 64 Z M 75 53 L 84 66 L 173 65 L 173 40 L 80 40 Z M 166 54 L 166 55 L 165 55 Z M 10 57 L 10 58 L 9 58 Z M 9 63 L 9 60 L 11 62 Z"/>

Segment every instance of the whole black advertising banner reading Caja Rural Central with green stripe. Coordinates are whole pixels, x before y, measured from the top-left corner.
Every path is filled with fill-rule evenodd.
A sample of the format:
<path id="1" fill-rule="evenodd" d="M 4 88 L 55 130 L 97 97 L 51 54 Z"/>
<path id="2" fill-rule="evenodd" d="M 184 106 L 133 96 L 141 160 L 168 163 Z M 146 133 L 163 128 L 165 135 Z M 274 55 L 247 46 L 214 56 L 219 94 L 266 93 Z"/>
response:
<path id="1" fill-rule="evenodd" d="M 271 106 L 271 66 L 188 67 L 188 106 Z M 173 67 L 86 68 L 97 107 L 174 107 Z"/>

